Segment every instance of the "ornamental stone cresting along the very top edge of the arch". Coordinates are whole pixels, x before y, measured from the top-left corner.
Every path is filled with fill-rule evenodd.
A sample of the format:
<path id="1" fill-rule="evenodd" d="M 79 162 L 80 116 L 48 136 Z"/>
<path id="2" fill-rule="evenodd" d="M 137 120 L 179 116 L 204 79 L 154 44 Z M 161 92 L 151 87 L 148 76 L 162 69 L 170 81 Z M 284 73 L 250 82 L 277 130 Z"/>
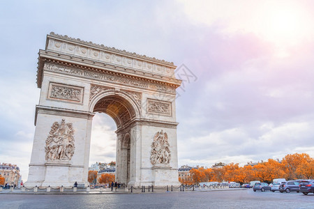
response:
<path id="1" fill-rule="evenodd" d="M 54 32 L 51 32 L 50 36 L 52 36 L 54 38 L 62 38 L 62 39 L 65 39 L 65 40 L 70 40 L 70 41 L 77 42 L 77 43 L 84 44 L 84 45 L 89 45 L 91 47 L 98 47 L 100 49 L 104 49 L 104 50 L 107 50 L 107 51 L 110 51 L 110 52 L 119 53 L 119 54 L 124 54 L 126 56 L 134 56 L 134 57 L 137 57 L 139 59 L 146 59 L 146 60 L 149 60 L 149 61 L 154 61 L 154 62 L 157 62 L 157 63 L 174 66 L 173 62 L 168 62 L 168 61 L 165 61 L 165 60 L 156 59 L 155 57 L 149 57 L 149 56 L 145 56 L 145 55 L 136 54 L 135 52 L 126 52 L 126 50 L 116 49 L 114 47 L 106 47 L 105 45 L 98 45 L 98 44 L 96 44 L 94 42 L 91 42 L 91 41 L 80 40 L 80 38 L 71 38 L 71 37 L 68 37 L 66 35 L 62 36 L 62 35 L 56 34 Z"/>

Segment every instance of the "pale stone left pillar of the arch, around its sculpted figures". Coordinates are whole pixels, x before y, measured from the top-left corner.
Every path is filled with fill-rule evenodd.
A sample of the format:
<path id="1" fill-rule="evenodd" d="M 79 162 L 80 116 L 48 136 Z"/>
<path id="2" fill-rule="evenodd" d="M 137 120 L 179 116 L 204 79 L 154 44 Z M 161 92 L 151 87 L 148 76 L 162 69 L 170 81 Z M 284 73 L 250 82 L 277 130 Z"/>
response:
<path id="1" fill-rule="evenodd" d="M 31 153 L 31 163 L 29 164 L 29 178 L 25 186 L 47 187 L 50 185 L 60 187 L 63 185 L 64 187 L 70 187 L 75 181 L 88 185 L 91 120 L 94 114 L 55 110 L 48 107 L 38 107 L 36 111 L 33 151 Z M 54 144 L 49 144 L 47 137 L 50 135 L 53 125 L 55 123 L 60 125 L 63 120 L 66 125 L 72 124 L 73 127 L 74 154 L 68 160 L 66 160 L 67 157 L 64 154 L 62 159 L 47 158 L 45 148 L 52 150 L 51 152 L 54 149 Z M 59 154 L 50 154 L 50 156 L 52 155 Z"/>

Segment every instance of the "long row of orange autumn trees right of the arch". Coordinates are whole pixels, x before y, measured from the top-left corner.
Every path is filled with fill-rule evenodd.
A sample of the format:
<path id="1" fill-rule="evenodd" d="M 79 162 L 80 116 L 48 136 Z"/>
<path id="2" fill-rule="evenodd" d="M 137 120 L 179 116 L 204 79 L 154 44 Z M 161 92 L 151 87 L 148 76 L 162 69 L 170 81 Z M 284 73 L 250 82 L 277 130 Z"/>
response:
<path id="1" fill-rule="evenodd" d="M 286 155 L 282 162 L 269 159 L 255 166 L 239 167 L 239 164 L 230 163 L 223 167 L 211 169 L 191 169 L 190 183 L 210 181 L 234 181 L 238 183 L 249 183 L 252 180 L 271 183 L 274 178 L 286 178 L 293 180 L 297 178 L 314 178 L 314 160 L 306 153 L 295 153 Z M 179 178 L 180 180 L 180 178 Z M 182 183 L 182 180 L 180 180 Z"/>

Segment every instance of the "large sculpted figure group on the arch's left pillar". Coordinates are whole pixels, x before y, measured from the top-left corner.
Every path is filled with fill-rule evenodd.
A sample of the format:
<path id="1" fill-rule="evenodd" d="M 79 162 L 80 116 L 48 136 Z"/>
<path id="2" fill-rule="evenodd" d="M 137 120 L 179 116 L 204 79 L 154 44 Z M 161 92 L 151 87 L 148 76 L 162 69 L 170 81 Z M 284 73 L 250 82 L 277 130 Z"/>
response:
<path id="1" fill-rule="evenodd" d="M 64 119 L 61 124 L 54 122 L 46 139 L 45 159 L 71 160 L 75 150 L 73 134 L 72 123 L 66 123 Z"/>

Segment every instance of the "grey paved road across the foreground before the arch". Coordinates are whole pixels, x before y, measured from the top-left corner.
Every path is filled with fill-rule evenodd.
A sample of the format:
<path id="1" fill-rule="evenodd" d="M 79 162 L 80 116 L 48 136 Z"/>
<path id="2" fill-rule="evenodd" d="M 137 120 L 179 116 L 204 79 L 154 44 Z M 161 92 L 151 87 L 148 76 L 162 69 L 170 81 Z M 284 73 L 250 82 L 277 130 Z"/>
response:
<path id="1" fill-rule="evenodd" d="M 314 208 L 314 194 L 252 189 L 156 194 L 1 194 L 0 208 Z"/>

